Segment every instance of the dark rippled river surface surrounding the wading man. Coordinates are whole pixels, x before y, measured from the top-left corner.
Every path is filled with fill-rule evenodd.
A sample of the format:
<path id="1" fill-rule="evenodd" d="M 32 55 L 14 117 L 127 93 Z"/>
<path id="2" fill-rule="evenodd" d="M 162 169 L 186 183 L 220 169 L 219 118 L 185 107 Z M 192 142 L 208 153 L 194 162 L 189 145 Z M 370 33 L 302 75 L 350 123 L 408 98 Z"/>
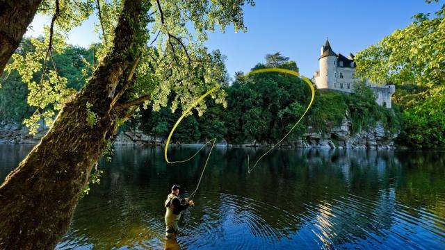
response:
<path id="1" fill-rule="evenodd" d="M 27 151 L 0 147 L 3 179 Z M 217 148 L 165 242 L 163 201 L 173 183 L 195 189 L 208 152 L 167 165 L 162 149 L 118 148 L 57 249 L 444 249 L 445 153 L 277 150 L 248 174 L 263 152 Z"/>

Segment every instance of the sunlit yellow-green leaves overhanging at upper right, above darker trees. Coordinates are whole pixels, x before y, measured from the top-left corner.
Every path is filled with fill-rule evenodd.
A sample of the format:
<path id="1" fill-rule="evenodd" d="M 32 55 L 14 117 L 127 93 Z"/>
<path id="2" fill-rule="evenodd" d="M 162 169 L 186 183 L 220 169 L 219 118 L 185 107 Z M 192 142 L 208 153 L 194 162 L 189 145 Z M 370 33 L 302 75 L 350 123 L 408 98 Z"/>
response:
<path id="1" fill-rule="evenodd" d="M 445 76 L 445 6 L 394 31 L 357 53 L 357 73 L 377 83 L 443 84 Z"/>

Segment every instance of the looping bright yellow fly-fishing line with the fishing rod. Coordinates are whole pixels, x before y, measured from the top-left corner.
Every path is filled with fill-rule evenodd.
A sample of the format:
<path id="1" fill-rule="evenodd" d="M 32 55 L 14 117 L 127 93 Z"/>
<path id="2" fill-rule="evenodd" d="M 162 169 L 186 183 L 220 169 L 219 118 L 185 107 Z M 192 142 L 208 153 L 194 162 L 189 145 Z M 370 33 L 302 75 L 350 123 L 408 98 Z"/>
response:
<path id="1" fill-rule="evenodd" d="M 281 68 L 257 69 L 257 70 L 253 70 L 252 72 L 249 72 L 249 73 L 247 74 L 247 76 L 250 76 L 250 75 L 253 75 L 253 74 L 259 74 L 259 73 L 265 73 L 265 72 L 279 72 L 279 73 L 284 73 L 284 74 L 291 74 L 292 76 L 297 76 L 297 77 L 302 78 L 302 80 L 305 81 L 305 83 L 307 83 L 307 85 L 308 85 L 309 88 L 311 89 L 312 97 L 311 97 L 311 101 L 309 102 L 309 105 L 307 106 L 307 108 L 306 108 L 306 110 L 305 110 L 305 113 L 302 114 L 302 116 L 300 117 L 300 119 L 298 119 L 298 121 L 296 122 L 296 124 L 294 124 L 294 125 L 292 126 L 292 128 L 289 130 L 289 132 L 286 133 L 286 135 L 284 135 L 284 137 L 283 137 L 281 140 L 279 140 L 276 144 L 274 144 L 272 147 L 270 147 L 270 149 L 269 149 L 268 151 L 266 151 L 266 153 L 264 153 L 262 156 L 260 156 L 260 157 L 258 158 L 257 162 L 255 162 L 255 164 L 254 164 L 252 167 L 250 167 L 250 157 L 249 157 L 249 155 L 248 155 L 248 173 L 249 173 L 249 174 L 252 172 L 252 170 L 253 170 L 255 167 L 257 167 L 259 161 L 260 161 L 262 158 L 264 158 L 264 156 L 266 156 L 270 151 L 272 151 L 273 149 L 275 149 L 275 147 L 276 147 L 278 144 L 280 144 L 284 139 L 286 139 L 286 137 L 293 131 L 293 129 L 296 128 L 296 126 L 300 123 L 300 121 L 303 119 L 303 117 L 305 117 L 307 111 L 309 111 L 309 108 L 311 108 L 312 103 L 314 102 L 314 97 L 315 97 L 315 90 L 314 90 L 314 87 L 312 86 L 311 81 L 309 81 L 309 79 L 306 78 L 305 76 L 300 76 L 300 74 L 299 74 L 298 72 L 293 71 L 293 70 L 291 70 L 291 69 L 281 69 Z M 198 151 L 196 151 L 196 153 L 194 153 L 193 156 L 191 156 L 190 158 L 187 158 L 186 160 L 175 160 L 175 161 L 172 161 L 172 162 L 170 162 L 170 160 L 168 160 L 168 144 L 170 144 L 170 140 L 172 139 L 172 135 L 173 135 L 173 133 L 175 133 L 175 130 L 176 130 L 177 126 L 179 125 L 179 123 L 181 123 L 182 119 L 184 119 L 184 117 L 185 117 L 188 113 L 191 112 L 192 108 L 194 108 L 194 107 L 197 105 L 197 103 L 199 103 L 200 101 L 202 101 L 202 99 L 204 99 L 205 97 L 207 97 L 209 94 L 211 94 L 211 92 L 215 91 L 215 90 L 218 89 L 218 88 L 220 88 L 220 87 L 218 86 L 218 87 L 212 88 L 211 90 L 209 90 L 209 91 L 207 91 L 205 94 L 203 94 L 200 98 L 198 98 L 198 99 L 196 99 L 195 101 L 193 101 L 193 103 L 191 103 L 190 106 L 188 106 L 188 108 L 182 113 L 181 117 L 179 117 L 179 119 L 177 120 L 177 122 L 176 122 L 175 125 L 173 126 L 172 130 L 170 131 L 170 134 L 168 135 L 167 142 L 165 143 L 165 149 L 164 149 L 164 158 L 165 158 L 165 161 L 166 161 L 167 163 L 169 163 L 169 164 L 175 164 L 175 163 L 185 163 L 185 162 L 187 162 L 188 160 L 193 159 L 198 153 L 200 153 L 200 151 L 201 151 L 202 149 L 204 149 L 204 147 L 207 147 L 207 144 L 209 144 L 210 142 L 212 142 L 212 144 L 211 144 L 211 149 L 210 149 L 210 151 L 209 151 L 209 155 L 207 156 L 206 163 L 204 164 L 204 167 L 203 167 L 203 169 L 202 169 L 200 179 L 199 179 L 199 181 L 197 182 L 196 189 L 195 189 L 195 191 L 193 191 L 193 192 L 191 193 L 191 195 L 190 195 L 191 198 L 195 196 L 195 194 L 196 194 L 198 188 L 200 188 L 200 183 L 201 183 L 201 180 L 202 180 L 202 176 L 204 176 L 204 172 L 205 172 L 205 170 L 206 170 L 206 168 L 207 168 L 207 163 L 209 163 L 209 158 L 210 158 L 211 152 L 213 151 L 213 147 L 215 147 L 216 138 L 213 138 L 213 139 L 211 139 L 211 140 L 205 142 L 205 143 L 202 145 L 202 147 L 201 147 Z"/>

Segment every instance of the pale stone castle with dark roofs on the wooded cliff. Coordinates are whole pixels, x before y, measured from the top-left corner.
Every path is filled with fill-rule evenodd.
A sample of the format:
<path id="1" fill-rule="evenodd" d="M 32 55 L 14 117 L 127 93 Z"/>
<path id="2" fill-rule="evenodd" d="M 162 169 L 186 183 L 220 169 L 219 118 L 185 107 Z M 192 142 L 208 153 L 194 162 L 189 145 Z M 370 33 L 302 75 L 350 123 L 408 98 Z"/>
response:
<path id="1" fill-rule="evenodd" d="M 325 45 L 321 47 L 321 56 L 318 58 L 319 69 L 314 73 L 312 82 L 317 89 L 338 90 L 341 92 L 353 92 L 353 86 L 359 82 L 355 77 L 355 61 L 353 53 L 349 56 L 337 55 L 326 39 Z M 375 94 L 375 101 L 380 106 L 391 108 L 391 96 L 396 92 L 394 85 L 377 85 L 365 80 Z"/>

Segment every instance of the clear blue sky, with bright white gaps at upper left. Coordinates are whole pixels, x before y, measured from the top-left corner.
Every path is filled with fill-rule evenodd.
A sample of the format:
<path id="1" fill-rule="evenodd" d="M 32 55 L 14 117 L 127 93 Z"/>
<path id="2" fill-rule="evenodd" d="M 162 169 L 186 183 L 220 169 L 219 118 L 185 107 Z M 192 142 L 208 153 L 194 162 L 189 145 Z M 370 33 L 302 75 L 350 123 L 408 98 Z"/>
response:
<path id="1" fill-rule="evenodd" d="M 376 44 L 397 28 L 412 22 L 419 12 L 439 10 L 444 1 L 427 4 L 423 0 L 257 0 L 254 7 L 245 6 L 247 33 L 235 33 L 232 26 L 225 33 L 218 29 L 209 34 L 206 46 L 219 49 L 227 56 L 230 76 L 249 72 L 264 63 L 267 53 L 280 52 L 295 60 L 300 73 L 309 78 L 318 69 L 321 45 L 329 39 L 334 52 L 348 55 Z M 27 35 L 42 34 L 43 24 L 51 17 L 38 15 Z M 91 17 L 68 34 L 68 42 L 88 47 L 97 42 Z"/>

